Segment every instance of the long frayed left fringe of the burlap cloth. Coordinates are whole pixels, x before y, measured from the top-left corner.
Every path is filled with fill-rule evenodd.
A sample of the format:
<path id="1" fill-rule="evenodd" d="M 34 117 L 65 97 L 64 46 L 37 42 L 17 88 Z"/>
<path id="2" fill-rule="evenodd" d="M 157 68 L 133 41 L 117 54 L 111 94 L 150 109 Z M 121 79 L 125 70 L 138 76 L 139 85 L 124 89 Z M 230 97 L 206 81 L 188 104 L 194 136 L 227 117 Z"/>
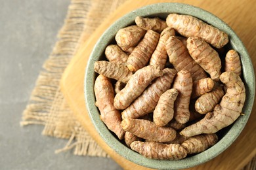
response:
<path id="1" fill-rule="evenodd" d="M 21 126 L 28 124 L 45 125 L 51 111 L 54 97 L 59 88 L 64 69 L 74 56 L 84 29 L 85 18 L 90 0 L 72 0 L 65 24 L 58 33 L 58 42 L 43 65 L 29 103 L 22 114 Z"/>

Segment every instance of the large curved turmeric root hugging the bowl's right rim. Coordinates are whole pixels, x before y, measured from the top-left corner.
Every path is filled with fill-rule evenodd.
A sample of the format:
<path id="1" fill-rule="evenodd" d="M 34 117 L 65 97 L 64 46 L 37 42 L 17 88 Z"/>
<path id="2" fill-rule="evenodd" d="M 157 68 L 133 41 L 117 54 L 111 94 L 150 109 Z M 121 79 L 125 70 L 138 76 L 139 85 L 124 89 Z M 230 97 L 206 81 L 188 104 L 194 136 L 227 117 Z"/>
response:
<path id="1" fill-rule="evenodd" d="M 232 124 L 240 116 L 245 101 L 244 83 L 240 76 L 233 72 L 224 72 L 220 79 L 227 88 L 221 103 L 215 106 L 213 112 L 208 112 L 202 120 L 185 127 L 181 135 L 190 137 L 201 133 L 215 133 Z"/>

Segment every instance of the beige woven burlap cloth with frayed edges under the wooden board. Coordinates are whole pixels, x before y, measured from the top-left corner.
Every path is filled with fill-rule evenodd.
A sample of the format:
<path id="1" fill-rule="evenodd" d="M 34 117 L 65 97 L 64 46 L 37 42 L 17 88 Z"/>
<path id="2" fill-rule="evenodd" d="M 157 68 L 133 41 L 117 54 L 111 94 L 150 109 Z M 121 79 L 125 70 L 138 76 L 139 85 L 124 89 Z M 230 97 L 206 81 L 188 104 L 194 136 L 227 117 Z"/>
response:
<path id="1" fill-rule="evenodd" d="M 125 1 L 127 0 L 71 1 L 65 23 L 58 33 L 58 42 L 43 65 L 20 122 L 22 126 L 41 124 L 45 126 L 43 135 L 69 139 L 64 148 L 55 150 L 56 153 L 74 149 L 74 154 L 79 156 L 108 157 L 75 120 L 74 113 L 60 92 L 59 83 L 81 41 L 86 40 L 106 16 Z M 244 169 L 253 169 L 256 167 L 255 162 L 256 159 L 253 158 Z"/>

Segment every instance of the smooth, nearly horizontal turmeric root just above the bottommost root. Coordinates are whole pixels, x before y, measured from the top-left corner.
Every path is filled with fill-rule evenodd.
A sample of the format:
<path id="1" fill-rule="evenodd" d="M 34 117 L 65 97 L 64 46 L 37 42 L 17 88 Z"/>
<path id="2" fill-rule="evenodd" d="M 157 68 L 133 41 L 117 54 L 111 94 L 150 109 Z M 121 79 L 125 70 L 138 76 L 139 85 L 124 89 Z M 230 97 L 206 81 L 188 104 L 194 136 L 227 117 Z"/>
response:
<path id="1" fill-rule="evenodd" d="M 154 122 L 148 120 L 125 118 L 122 120 L 121 126 L 123 130 L 149 141 L 168 142 L 173 141 L 176 137 L 175 129 L 158 127 Z"/>

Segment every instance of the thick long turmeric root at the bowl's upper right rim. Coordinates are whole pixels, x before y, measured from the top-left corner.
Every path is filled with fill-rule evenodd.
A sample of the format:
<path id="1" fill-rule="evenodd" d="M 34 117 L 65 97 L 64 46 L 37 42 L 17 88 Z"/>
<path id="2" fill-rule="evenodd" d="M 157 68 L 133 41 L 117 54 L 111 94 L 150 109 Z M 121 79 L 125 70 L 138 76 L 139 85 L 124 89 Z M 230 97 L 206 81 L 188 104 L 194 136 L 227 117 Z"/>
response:
<path id="1" fill-rule="evenodd" d="M 166 22 L 169 27 L 173 27 L 182 36 L 200 37 L 216 48 L 221 48 L 228 43 L 228 35 L 226 33 L 193 16 L 169 14 Z"/>

